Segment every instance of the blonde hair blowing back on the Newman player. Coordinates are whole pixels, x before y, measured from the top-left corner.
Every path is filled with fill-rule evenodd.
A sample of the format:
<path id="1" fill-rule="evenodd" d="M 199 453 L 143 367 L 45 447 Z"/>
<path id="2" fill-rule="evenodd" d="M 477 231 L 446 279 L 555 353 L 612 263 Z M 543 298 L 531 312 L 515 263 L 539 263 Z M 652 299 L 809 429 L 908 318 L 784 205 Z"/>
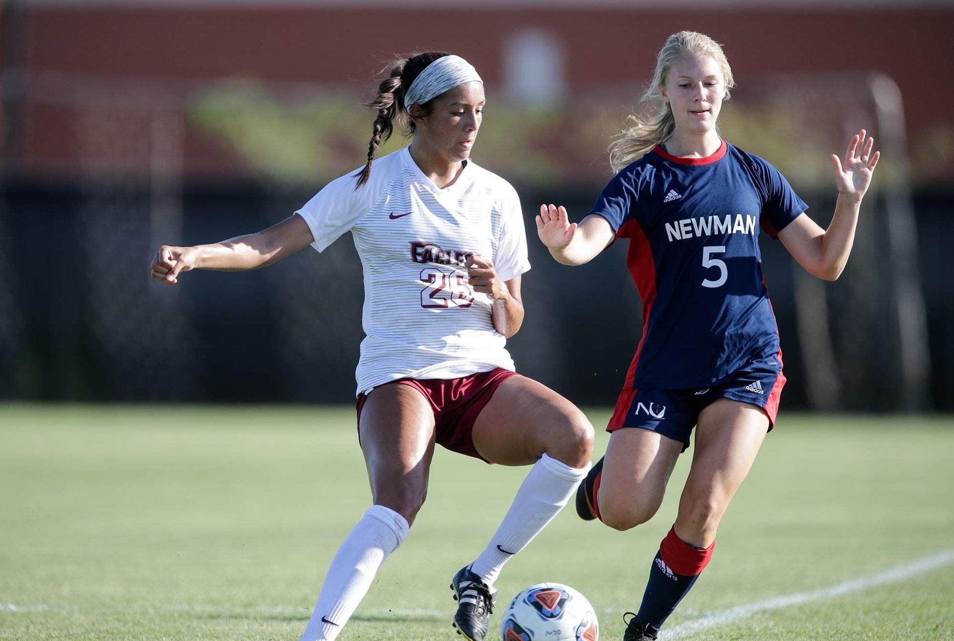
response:
<path id="1" fill-rule="evenodd" d="M 729 90 L 735 87 L 736 83 L 732 77 L 729 60 L 725 57 L 725 53 L 722 53 L 722 47 L 705 33 L 678 32 L 669 36 L 656 56 L 653 82 L 642 97 L 643 101 L 658 101 L 659 106 L 654 112 L 646 115 L 631 114 L 626 118 L 631 126 L 616 137 L 609 147 L 610 166 L 613 173 L 619 172 L 623 167 L 652 150 L 657 144 L 662 144 L 673 137 L 675 131 L 673 109 L 668 102 L 663 101 L 660 90 L 665 87 L 669 70 L 672 69 L 676 59 L 685 53 L 707 55 L 716 60 L 722 69 L 722 75 L 725 76 L 725 96 L 722 99 L 729 99 Z"/>

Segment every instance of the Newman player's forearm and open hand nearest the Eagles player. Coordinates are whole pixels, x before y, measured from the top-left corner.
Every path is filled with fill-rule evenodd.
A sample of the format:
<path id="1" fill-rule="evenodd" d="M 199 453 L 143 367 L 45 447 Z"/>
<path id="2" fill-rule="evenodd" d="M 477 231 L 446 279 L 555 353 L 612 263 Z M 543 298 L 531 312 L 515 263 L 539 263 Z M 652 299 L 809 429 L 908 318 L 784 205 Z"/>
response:
<path id="1" fill-rule="evenodd" d="M 550 255 L 563 265 L 589 263 L 610 245 L 613 237 L 610 223 L 602 216 L 591 214 L 580 224 L 570 223 L 567 209 L 562 205 L 540 205 L 536 217 L 537 235 L 550 248 Z"/>

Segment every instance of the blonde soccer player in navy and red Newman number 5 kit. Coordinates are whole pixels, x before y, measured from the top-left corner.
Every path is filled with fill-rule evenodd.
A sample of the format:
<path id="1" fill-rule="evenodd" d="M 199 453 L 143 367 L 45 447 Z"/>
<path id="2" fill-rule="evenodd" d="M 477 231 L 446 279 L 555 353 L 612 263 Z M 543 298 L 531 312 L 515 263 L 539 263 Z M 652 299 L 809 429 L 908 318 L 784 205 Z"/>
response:
<path id="1" fill-rule="evenodd" d="M 607 428 L 610 444 L 577 490 L 580 516 L 619 530 L 652 518 L 695 426 L 678 515 L 624 641 L 655 639 L 692 588 L 775 424 L 785 376 L 759 228 L 809 272 L 835 280 L 879 158 L 863 129 L 843 159 L 832 156 L 838 203 L 821 229 L 775 167 L 719 137 L 716 119 L 733 84 L 712 38 L 670 36 L 644 96 L 661 99 L 661 108 L 631 117 L 633 127 L 612 143 L 618 173 L 590 215 L 570 223 L 566 209 L 550 204 L 536 219 L 540 240 L 564 265 L 629 239 L 626 262 L 643 302 L 642 340 Z"/>

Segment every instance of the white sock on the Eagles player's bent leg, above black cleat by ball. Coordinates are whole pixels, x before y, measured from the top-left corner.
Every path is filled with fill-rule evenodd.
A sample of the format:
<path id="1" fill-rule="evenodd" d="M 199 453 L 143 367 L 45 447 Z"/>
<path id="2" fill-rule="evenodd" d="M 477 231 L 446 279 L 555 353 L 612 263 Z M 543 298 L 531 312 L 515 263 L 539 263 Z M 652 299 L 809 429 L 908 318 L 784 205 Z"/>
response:
<path id="1" fill-rule="evenodd" d="M 503 523 L 470 569 L 492 586 L 508 559 L 552 521 L 586 478 L 590 463 L 577 469 L 544 454 L 530 468 Z"/>

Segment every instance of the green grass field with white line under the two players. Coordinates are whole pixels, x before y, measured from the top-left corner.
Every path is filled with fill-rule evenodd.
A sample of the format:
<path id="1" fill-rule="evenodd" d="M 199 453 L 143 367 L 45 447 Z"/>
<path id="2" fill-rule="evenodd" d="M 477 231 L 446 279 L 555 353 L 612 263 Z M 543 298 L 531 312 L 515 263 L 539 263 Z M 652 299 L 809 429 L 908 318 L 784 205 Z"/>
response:
<path id="1" fill-rule="evenodd" d="M 589 414 L 598 456 L 607 414 Z M 651 523 L 560 514 L 505 568 L 501 608 L 567 583 L 621 639 L 689 454 Z M 952 455 L 951 418 L 783 414 L 668 636 L 954 639 Z M 455 638 L 448 581 L 524 474 L 439 451 L 424 510 L 339 638 Z M 0 405 L 0 490 L 2 639 L 295 641 L 369 496 L 350 408 Z M 895 566 L 909 571 L 874 585 Z"/>

